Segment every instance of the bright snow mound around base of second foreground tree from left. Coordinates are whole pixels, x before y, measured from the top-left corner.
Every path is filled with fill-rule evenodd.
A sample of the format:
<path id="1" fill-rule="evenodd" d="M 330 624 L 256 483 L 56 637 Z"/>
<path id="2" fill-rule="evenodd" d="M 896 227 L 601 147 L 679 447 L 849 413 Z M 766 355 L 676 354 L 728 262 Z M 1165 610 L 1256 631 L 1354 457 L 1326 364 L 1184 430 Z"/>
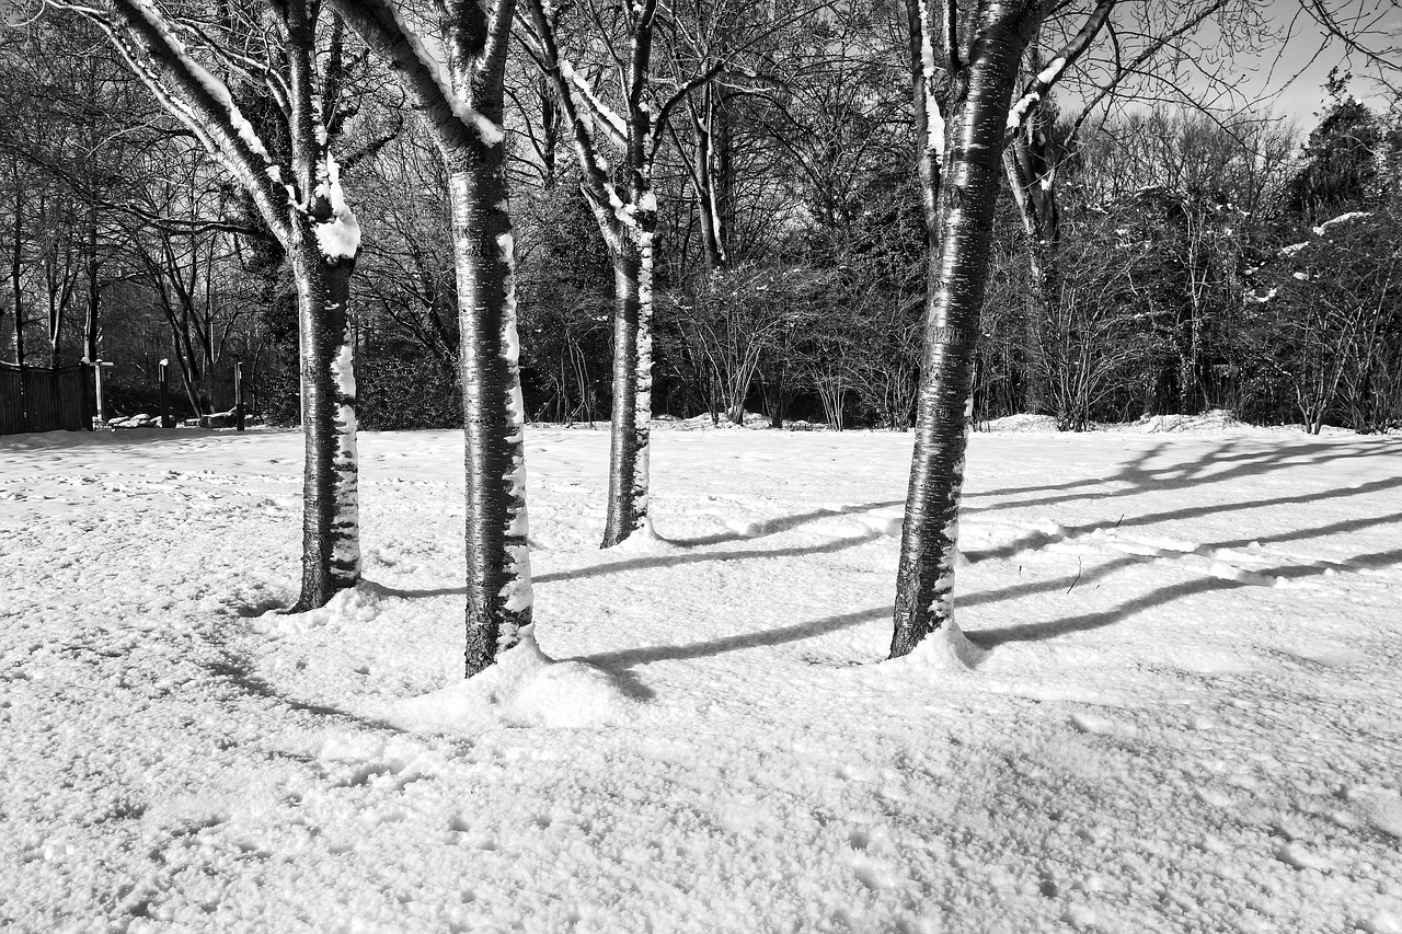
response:
<path id="1" fill-rule="evenodd" d="M 634 707 L 611 675 L 583 662 L 557 662 L 527 634 L 481 675 L 400 701 L 387 719 L 408 729 L 579 728 L 620 722 Z"/>

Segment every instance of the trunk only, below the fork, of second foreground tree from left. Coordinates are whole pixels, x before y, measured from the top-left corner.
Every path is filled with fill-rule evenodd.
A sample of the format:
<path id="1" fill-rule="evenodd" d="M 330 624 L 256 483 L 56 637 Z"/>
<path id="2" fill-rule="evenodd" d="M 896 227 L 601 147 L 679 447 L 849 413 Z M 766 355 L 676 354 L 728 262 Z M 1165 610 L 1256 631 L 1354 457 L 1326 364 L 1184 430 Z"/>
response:
<path id="1" fill-rule="evenodd" d="M 501 146 L 449 174 L 467 453 L 467 676 L 531 621 L 526 408 L 516 335 L 515 244 Z"/>

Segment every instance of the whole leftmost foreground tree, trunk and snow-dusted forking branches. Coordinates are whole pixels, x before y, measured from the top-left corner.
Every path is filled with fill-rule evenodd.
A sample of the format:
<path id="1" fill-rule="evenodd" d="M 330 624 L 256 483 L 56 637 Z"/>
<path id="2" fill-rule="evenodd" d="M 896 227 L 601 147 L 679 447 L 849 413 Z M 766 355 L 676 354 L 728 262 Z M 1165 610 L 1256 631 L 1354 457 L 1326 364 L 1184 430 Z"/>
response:
<path id="1" fill-rule="evenodd" d="M 292 609 L 322 606 L 360 579 L 355 365 L 346 328 L 360 229 L 328 133 L 342 77 L 339 31 L 334 24 L 324 29 L 315 0 L 259 4 L 248 21 L 229 20 L 222 8 L 224 25 L 248 39 L 237 45 L 167 17 L 150 0 L 49 6 L 81 14 L 108 35 L 157 101 L 247 191 L 287 252 L 297 286 L 306 435 L 303 575 Z M 206 53 L 203 62 L 196 48 Z M 286 119 L 286 158 L 254 129 L 216 70 L 257 81 L 276 102 Z"/>

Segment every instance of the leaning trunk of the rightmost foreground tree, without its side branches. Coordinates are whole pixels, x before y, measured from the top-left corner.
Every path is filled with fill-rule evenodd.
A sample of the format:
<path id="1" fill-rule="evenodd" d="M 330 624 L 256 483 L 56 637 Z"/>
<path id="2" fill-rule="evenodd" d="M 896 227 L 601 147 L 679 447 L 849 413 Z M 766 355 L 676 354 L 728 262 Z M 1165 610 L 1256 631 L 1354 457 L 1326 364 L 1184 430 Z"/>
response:
<path id="1" fill-rule="evenodd" d="M 1018 63 L 1035 27 L 1022 3 L 987 3 L 970 49 L 969 90 L 956 115 L 941 192 L 941 237 L 930 251 L 925 366 L 896 579 L 890 655 L 953 630 L 955 548 L 963 488 L 973 349 L 988 278 L 1002 135 Z"/>

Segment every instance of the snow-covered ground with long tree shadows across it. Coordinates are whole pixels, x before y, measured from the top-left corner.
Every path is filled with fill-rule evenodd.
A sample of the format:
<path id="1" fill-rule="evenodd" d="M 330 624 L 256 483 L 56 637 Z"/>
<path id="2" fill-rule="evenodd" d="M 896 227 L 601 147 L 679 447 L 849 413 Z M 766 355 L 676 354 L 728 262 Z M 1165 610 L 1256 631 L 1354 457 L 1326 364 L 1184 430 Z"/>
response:
<path id="1" fill-rule="evenodd" d="M 533 429 L 575 662 L 446 726 L 461 443 L 362 446 L 372 583 L 279 617 L 296 435 L 0 439 L 0 928 L 1402 933 L 1395 438 L 974 436 L 960 673 L 879 662 L 910 436 L 659 432 L 600 553 Z"/>

